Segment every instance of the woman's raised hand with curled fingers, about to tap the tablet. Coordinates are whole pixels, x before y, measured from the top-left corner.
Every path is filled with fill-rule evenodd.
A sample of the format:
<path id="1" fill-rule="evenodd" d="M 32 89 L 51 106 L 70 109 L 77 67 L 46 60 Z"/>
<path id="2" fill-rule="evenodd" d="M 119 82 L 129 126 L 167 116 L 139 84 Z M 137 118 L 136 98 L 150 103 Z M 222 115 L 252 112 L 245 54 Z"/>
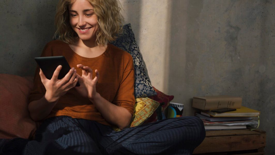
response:
<path id="1" fill-rule="evenodd" d="M 98 70 L 95 70 L 96 75 L 95 78 L 92 79 L 93 70 L 90 67 L 84 66 L 82 64 L 78 64 L 76 66 L 82 69 L 82 76 L 78 75 L 78 82 L 80 86 L 75 87 L 75 89 L 83 97 L 88 97 L 90 100 L 93 100 L 97 94 L 95 85 L 99 79 L 99 72 Z"/>

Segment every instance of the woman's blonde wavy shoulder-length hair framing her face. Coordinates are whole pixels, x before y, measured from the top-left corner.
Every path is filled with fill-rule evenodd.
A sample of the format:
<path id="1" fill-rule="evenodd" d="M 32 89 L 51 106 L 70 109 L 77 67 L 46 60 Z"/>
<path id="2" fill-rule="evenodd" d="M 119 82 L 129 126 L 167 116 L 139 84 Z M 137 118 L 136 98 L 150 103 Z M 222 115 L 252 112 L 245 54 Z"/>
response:
<path id="1" fill-rule="evenodd" d="M 69 5 L 75 0 L 59 0 L 56 7 L 54 39 L 72 44 L 78 35 L 70 25 Z M 117 0 L 87 0 L 94 7 L 99 29 L 97 31 L 96 45 L 106 45 L 114 41 L 122 32 L 124 22 L 120 13 L 121 4 Z"/>

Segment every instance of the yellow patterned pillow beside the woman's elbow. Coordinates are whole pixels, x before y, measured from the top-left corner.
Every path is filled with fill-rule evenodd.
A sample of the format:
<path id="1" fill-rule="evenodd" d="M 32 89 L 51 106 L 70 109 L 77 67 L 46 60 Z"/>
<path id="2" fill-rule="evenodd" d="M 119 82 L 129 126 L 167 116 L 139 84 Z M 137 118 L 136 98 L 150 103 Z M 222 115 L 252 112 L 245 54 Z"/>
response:
<path id="1" fill-rule="evenodd" d="M 149 118 L 155 110 L 158 108 L 160 103 L 150 98 L 136 98 L 136 104 L 134 106 L 134 115 L 131 120 L 130 127 L 141 125 L 147 118 Z M 115 131 L 120 129 L 113 127 Z"/>

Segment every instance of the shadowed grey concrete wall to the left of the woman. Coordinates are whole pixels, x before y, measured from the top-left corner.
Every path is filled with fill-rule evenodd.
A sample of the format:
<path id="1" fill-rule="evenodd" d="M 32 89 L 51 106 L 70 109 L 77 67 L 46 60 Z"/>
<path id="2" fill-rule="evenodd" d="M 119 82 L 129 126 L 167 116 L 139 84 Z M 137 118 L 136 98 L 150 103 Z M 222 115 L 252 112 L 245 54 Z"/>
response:
<path id="1" fill-rule="evenodd" d="M 33 76 L 54 33 L 56 0 L 0 1 L 0 73 Z"/>

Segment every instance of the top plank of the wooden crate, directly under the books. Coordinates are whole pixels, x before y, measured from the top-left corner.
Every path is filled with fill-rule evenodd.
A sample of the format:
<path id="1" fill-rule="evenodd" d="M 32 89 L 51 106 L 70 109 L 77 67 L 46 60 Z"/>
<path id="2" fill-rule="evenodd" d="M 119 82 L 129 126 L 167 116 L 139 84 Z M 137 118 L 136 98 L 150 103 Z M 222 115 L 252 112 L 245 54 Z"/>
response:
<path id="1" fill-rule="evenodd" d="M 261 130 L 249 130 L 249 129 L 237 129 L 237 130 L 215 130 L 215 131 L 206 131 L 206 137 L 211 136 L 226 136 L 226 135 L 253 135 L 253 134 L 262 134 L 265 131 Z"/>

